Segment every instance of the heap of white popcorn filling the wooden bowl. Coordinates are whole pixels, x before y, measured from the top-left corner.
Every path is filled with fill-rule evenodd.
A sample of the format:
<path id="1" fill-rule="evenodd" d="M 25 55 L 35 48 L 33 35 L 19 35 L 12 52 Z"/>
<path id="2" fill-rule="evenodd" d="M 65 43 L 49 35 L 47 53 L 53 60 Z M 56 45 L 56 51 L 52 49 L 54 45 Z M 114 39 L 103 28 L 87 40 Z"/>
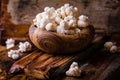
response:
<path id="1" fill-rule="evenodd" d="M 58 9 L 45 7 L 44 12 L 36 15 L 33 20 L 37 28 L 63 34 L 80 33 L 80 27 L 89 25 L 89 19 L 85 15 L 78 16 L 78 8 L 64 4 Z"/>

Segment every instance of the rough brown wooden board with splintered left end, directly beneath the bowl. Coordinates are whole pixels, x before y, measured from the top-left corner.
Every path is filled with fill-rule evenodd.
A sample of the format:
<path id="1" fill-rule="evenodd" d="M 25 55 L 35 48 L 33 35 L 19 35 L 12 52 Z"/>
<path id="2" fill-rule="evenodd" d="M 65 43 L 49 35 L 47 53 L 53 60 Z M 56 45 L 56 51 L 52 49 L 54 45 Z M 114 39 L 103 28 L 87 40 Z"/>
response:
<path id="1" fill-rule="evenodd" d="M 95 52 L 103 47 L 105 41 L 106 37 L 92 44 L 84 51 L 77 52 L 76 55 L 51 55 L 35 51 L 15 62 L 10 72 L 13 73 L 19 69 L 24 69 L 28 76 L 39 79 L 54 79 L 58 75 L 64 75 L 73 61 L 86 62 L 93 55 L 96 55 Z"/>

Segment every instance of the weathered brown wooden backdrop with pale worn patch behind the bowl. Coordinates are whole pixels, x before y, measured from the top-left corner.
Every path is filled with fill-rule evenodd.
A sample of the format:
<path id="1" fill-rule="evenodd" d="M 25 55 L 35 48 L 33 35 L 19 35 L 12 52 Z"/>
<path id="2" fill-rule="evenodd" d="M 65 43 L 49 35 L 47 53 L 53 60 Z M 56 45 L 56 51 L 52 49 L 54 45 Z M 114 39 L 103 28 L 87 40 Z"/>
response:
<path id="1" fill-rule="evenodd" d="M 70 3 L 87 15 L 98 31 L 120 32 L 119 0 L 1 0 L 3 40 L 9 37 L 28 37 L 28 29 L 37 13 L 46 6 L 58 8 Z"/>

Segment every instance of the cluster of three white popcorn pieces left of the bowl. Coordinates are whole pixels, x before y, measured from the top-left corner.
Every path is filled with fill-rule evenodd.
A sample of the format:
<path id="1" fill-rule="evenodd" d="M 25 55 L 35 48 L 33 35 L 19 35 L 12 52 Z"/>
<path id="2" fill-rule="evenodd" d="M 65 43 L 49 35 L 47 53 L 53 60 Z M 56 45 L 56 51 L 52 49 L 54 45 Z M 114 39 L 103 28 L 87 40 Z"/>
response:
<path id="1" fill-rule="evenodd" d="M 13 43 L 13 41 L 14 41 L 14 43 Z M 6 41 L 7 49 L 10 49 L 10 48 L 14 47 L 14 46 L 11 46 L 11 45 L 15 45 L 15 40 L 12 39 L 12 38 L 10 38 Z M 32 45 L 28 41 L 20 42 L 18 47 L 19 47 L 18 50 L 8 51 L 8 57 L 10 57 L 12 59 L 18 59 L 22 55 L 21 52 L 30 51 L 32 49 Z"/>

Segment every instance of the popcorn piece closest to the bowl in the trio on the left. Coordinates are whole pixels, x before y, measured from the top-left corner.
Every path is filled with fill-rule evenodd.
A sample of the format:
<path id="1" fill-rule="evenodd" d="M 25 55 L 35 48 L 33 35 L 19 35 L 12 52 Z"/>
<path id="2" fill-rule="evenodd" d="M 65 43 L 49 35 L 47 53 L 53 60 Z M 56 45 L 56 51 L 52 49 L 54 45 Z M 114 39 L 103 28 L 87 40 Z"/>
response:
<path id="1" fill-rule="evenodd" d="M 28 41 L 26 41 L 24 43 L 20 42 L 18 47 L 19 47 L 19 51 L 25 52 L 31 50 L 32 45 Z"/>

